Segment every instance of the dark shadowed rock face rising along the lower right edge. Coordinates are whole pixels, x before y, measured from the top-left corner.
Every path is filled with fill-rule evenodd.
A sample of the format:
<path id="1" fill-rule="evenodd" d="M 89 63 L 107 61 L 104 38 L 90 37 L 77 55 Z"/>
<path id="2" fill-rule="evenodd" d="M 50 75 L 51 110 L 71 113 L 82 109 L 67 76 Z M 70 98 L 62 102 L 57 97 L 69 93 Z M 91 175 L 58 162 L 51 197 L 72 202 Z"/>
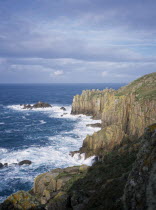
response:
<path id="1" fill-rule="evenodd" d="M 146 129 L 124 189 L 124 207 L 156 209 L 156 124 Z"/>

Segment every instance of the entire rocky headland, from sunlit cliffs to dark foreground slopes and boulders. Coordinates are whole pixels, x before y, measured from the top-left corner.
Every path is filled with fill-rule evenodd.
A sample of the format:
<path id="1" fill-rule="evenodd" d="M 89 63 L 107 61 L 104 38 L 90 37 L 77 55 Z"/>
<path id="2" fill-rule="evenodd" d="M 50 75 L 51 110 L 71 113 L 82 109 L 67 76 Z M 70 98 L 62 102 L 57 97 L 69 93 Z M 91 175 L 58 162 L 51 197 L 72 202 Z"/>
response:
<path id="1" fill-rule="evenodd" d="M 155 210 L 156 73 L 117 91 L 83 91 L 72 114 L 101 119 L 101 130 L 78 151 L 98 161 L 41 174 L 32 190 L 12 194 L 0 209 Z"/>

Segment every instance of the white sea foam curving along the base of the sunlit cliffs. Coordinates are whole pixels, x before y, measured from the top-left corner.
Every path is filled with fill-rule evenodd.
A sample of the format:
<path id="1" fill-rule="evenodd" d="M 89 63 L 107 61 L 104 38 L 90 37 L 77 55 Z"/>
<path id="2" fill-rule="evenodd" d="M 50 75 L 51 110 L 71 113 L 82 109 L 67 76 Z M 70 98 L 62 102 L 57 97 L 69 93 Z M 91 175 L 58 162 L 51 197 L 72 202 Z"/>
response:
<path id="1" fill-rule="evenodd" d="M 69 153 L 70 151 L 78 150 L 82 146 L 83 140 L 87 134 L 91 135 L 100 130 L 100 128 L 86 127 L 86 125 L 97 122 L 100 123 L 101 120 L 93 120 L 91 117 L 85 115 L 71 115 L 71 106 L 64 106 L 66 111 L 60 109 L 61 107 L 62 105 L 53 105 L 52 108 L 38 108 L 30 111 L 45 111 L 49 117 L 73 120 L 75 121 L 75 127 L 71 131 L 61 132 L 59 135 L 49 137 L 49 145 L 45 147 L 32 146 L 28 149 L 6 152 L 5 155 L 1 155 L 1 162 L 7 162 L 11 165 L 28 159 L 33 162 L 33 169 L 37 169 L 41 165 L 49 164 L 53 165 L 54 168 L 80 164 L 91 165 L 94 157 L 85 159 L 84 154 L 80 155 L 81 158 L 76 156 L 71 157 Z M 23 109 L 23 106 L 20 105 L 12 105 L 8 106 L 8 108 L 17 111 L 29 111 Z M 40 120 L 39 122 L 41 124 L 46 123 L 44 120 Z M 10 130 L 8 132 L 10 132 Z"/>

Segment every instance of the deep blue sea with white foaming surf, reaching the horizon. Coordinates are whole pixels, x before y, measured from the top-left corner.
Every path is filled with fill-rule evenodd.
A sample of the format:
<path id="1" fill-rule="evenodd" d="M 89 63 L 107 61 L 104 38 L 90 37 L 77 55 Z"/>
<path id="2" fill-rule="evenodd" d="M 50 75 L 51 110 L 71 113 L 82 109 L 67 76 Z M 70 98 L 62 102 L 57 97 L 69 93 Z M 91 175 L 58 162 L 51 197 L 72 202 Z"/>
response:
<path id="1" fill-rule="evenodd" d="M 87 164 L 94 157 L 72 157 L 100 120 L 71 115 L 74 95 L 82 90 L 118 89 L 123 84 L 1 84 L 0 85 L 0 202 L 18 190 L 30 190 L 34 178 L 54 168 Z M 25 110 L 21 104 L 47 102 L 51 108 Z M 61 110 L 65 107 L 66 111 Z M 23 160 L 32 164 L 19 166 Z"/>

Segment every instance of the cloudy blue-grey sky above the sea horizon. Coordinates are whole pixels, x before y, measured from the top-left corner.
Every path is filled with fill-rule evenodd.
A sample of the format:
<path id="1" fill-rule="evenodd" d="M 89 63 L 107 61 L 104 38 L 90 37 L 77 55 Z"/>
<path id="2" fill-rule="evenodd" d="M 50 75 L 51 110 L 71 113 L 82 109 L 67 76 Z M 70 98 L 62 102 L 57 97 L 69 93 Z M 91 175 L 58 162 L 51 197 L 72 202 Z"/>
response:
<path id="1" fill-rule="evenodd" d="M 0 83 L 128 83 L 156 71 L 155 0 L 0 0 Z"/>

